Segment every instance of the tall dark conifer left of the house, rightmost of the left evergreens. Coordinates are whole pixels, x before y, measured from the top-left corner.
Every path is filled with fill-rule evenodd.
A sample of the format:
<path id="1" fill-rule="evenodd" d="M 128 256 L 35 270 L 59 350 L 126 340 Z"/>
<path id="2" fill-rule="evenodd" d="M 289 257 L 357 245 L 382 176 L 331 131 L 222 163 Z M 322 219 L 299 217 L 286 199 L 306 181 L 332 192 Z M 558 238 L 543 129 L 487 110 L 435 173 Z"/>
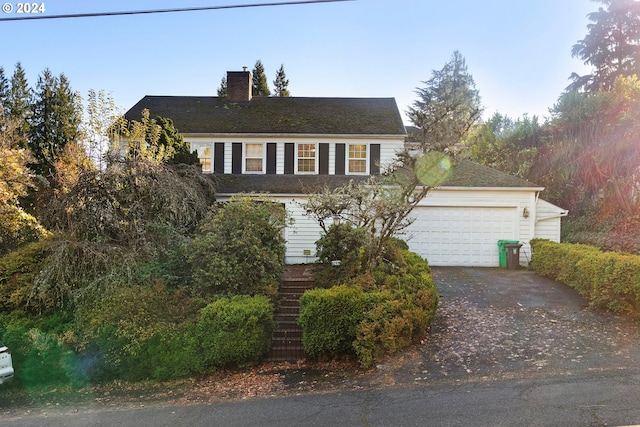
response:
<path id="1" fill-rule="evenodd" d="M 81 116 L 79 98 L 64 74 L 55 77 L 45 69 L 38 79 L 29 138 L 36 173 L 47 177 L 55 173 L 65 146 L 80 139 Z"/>

